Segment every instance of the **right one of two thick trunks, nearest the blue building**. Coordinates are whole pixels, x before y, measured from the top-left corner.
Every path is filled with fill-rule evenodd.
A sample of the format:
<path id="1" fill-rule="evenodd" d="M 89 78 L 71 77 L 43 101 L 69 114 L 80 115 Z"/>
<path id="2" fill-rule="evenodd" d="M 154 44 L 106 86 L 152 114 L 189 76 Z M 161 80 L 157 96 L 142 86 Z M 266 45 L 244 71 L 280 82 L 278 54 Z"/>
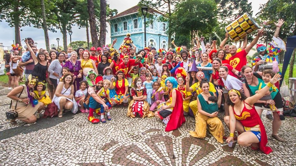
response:
<path id="1" fill-rule="evenodd" d="M 100 1 L 100 39 L 99 45 L 105 45 L 106 43 L 106 0 Z"/>

